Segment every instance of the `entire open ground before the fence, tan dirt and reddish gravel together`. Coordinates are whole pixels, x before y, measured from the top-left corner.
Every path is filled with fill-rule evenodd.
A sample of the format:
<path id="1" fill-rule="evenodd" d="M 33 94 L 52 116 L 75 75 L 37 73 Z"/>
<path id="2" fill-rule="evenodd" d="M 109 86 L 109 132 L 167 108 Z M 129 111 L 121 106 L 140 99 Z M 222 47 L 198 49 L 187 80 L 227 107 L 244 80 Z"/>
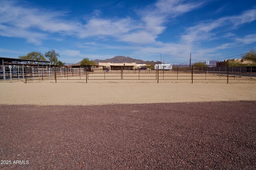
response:
<path id="1" fill-rule="evenodd" d="M 253 170 L 255 108 L 255 80 L 1 81 L 0 169 Z"/>

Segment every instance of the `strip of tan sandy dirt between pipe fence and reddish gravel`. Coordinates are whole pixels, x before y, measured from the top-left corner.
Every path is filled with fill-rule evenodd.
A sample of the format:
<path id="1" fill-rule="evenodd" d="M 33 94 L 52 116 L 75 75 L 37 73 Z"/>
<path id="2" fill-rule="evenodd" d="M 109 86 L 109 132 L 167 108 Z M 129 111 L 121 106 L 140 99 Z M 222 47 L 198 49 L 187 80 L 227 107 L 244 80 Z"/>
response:
<path id="1" fill-rule="evenodd" d="M 0 104 L 100 105 L 255 101 L 255 80 L 30 80 L 0 82 Z"/>

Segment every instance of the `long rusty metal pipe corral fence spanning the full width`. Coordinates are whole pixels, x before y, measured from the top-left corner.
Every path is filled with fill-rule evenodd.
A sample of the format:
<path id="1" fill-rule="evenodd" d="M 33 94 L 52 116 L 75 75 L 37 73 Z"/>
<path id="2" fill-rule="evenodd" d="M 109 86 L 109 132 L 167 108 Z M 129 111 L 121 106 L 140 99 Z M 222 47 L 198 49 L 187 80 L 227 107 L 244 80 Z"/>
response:
<path id="1" fill-rule="evenodd" d="M 173 66 L 171 69 L 154 66 L 1 66 L 0 80 L 256 80 L 256 66 Z"/>

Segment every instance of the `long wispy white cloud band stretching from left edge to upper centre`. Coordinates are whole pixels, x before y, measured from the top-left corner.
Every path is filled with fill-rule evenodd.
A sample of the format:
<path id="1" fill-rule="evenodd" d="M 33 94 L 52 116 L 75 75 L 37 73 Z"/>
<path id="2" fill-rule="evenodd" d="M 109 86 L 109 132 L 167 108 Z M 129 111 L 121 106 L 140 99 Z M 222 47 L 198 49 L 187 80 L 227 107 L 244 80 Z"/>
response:
<path id="1" fill-rule="evenodd" d="M 138 11 L 141 16 L 139 20 L 130 17 L 100 18 L 102 11 L 96 9 L 90 18 L 85 18 L 86 23 L 83 24 L 78 20 L 64 19 L 69 11 L 50 11 L 3 0 L 0 2 L 0 31 L 2 36 L 26 38 L 36 45 L 52 38 L 51 35 L 55 33 L 79 38 L 112 37 L 122 42 L 147 44 L 155 42 L 158 35 L 163 33 L 168 18 L 182 15 L 202 4 L 184 0 L 159 0 Z"/>

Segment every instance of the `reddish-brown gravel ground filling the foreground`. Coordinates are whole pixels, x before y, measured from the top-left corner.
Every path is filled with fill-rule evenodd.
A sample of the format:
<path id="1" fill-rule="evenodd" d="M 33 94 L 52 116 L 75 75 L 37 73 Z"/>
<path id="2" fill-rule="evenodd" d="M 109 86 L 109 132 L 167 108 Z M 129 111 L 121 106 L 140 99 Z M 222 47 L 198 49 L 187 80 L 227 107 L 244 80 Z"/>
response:
<path id="1" fill-rule="evenodd" d="M 256 101 L 0 105 L 0 159 L 11 161 L 0 169 L 256 169 L 255 108 Z"/>

